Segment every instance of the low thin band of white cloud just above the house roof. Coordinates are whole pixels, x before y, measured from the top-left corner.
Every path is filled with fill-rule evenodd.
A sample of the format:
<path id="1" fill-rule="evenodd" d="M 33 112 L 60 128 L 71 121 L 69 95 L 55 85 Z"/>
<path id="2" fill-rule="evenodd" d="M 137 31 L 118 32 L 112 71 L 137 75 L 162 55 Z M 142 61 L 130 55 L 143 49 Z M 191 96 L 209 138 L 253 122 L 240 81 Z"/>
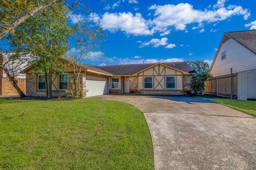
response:
<path id="1" fill-rule="evenodd" d="M 166 58 L 166 59 L 146 59 L 146 60 L 132 60 L 130 58 L 119 58 L 118 64 L 142 64 L 144 63 L 169 63 L 169 62 L 183 62 L 182 58 Z"/>

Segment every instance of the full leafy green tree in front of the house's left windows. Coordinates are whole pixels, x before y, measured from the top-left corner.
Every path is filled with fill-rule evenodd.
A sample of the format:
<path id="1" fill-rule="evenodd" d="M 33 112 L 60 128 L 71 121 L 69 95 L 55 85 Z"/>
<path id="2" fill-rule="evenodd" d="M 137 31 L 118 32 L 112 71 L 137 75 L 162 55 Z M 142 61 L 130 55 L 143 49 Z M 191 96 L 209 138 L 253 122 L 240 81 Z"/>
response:
<path id="1" fill-rule="evenodd" d="M 31 64 L 35 73 L 45 73 L 47 98 L 52 97 L 52 74 L 62 69 L 58 58 L 67 52 L 68 37 L 73 33 L 73 29 L 67 27 L 68 8 L 59 3 L 51 7 L 39 11 L 7 36 L 14 51 L 34 57 Z"/>

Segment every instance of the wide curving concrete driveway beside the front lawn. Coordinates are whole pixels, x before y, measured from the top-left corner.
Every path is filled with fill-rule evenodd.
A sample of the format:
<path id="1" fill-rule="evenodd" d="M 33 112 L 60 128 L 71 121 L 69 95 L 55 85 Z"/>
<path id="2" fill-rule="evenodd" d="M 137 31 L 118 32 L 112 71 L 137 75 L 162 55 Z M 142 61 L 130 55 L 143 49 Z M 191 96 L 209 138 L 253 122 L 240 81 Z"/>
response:
<path id="1" fill-rule="evenodd" d="M 118 96 L 144 113 L 155 169 L 256 169 L 256 119 L 193 97 Z"/>

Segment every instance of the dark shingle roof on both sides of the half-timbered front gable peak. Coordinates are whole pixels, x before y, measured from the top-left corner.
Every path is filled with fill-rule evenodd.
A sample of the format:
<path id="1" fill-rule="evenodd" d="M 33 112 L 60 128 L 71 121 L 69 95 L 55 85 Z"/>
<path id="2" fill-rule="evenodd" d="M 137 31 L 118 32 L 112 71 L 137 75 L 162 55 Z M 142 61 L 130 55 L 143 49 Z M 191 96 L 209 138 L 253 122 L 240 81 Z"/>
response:
<path id="1" fill-rule="evenodd" d="M 129 75 L 137 73 L 141 70 L 147 69 L 156 63 L 147 63 L 147 64 L 124 64 L 124 65 L 105 65 L 105 66 L 94 66 L 100 70 L 109 72 L 116 75 Z M 174 69 L 181 71 L 193 73 L 194 70 L 188 65 L 187 62 L 172 62 L 172 63 L 163 63 L 165 65 L 171 66 Z"/>

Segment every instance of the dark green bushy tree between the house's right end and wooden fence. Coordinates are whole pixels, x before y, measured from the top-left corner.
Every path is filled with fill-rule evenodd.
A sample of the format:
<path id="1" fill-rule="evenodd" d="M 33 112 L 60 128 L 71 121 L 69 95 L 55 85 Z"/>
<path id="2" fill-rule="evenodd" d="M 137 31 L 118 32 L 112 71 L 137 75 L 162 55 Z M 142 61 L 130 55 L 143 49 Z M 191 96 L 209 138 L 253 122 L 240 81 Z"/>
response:
<path id="1" fill-rule="evenodd" d="M 202 96 L 205 89 L 205 81 L 212 78 L 212 75 L 209 74 L 209 64 L 203 61 L 193 61 L 188 63 L 196 71 L 196 73 L 190 74 L 191 92 L 196 96 Z"/>

